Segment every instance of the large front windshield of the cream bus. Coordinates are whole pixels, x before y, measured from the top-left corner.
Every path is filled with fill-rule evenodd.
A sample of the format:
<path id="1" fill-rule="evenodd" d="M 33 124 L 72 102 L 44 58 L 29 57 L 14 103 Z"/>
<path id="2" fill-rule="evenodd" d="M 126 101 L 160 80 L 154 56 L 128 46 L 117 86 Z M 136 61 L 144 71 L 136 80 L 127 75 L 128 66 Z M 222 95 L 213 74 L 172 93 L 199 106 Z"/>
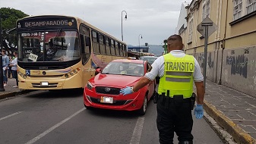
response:
<path id="1" fill-rule="evenodd" d="M 19 61 L 72 61 L 80 58 L 77 31 L 19 33 Z"/>

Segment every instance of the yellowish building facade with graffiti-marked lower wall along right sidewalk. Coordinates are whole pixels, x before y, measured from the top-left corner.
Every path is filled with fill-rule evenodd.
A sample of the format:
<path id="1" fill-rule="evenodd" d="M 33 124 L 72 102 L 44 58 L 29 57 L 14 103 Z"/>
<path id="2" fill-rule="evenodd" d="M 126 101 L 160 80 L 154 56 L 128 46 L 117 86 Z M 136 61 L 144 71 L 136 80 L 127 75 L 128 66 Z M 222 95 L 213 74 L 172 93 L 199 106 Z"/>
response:
<path id="1" fill-rule="evenodd" d="M 193 0 L 185 8 L 187 27 L 179 30 L 185 52 L 202 70 L 207 67 L 208 80 L 256 97 L 256 0 Z M 205 39 L 197 29 L 206 17 L 216 30 L 208 38 L 204 64 Z"/>

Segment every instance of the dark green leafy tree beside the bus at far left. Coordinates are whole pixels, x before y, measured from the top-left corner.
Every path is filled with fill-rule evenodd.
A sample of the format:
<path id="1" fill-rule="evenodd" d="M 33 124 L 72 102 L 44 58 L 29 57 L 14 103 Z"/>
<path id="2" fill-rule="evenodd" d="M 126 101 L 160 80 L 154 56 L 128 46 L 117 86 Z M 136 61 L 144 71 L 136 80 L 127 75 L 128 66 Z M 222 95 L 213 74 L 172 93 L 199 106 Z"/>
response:
<path id="1" fill-rule="evenodd" d="M 16 27 L 16 21 L 20 18 L 27 17 L 23 11 L 14 8 L 0 8 L 1 26 L 2 26 L 2 44 L 5 49 L 14 48 L 17 45 L 17 33 L 10 30 Z"/>

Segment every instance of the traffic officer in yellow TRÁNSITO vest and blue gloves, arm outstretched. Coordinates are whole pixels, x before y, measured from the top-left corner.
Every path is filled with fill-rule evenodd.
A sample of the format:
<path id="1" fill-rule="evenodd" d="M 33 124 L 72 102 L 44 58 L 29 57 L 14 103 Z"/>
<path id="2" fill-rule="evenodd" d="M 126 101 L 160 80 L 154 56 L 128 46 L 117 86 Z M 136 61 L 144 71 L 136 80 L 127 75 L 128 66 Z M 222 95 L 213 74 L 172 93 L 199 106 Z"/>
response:
<path id="1" fill-rule="evenodd" d="M 194 138 L 191 134 L 193 127 L 191 115 L 193 81 L 198 94 L 194 115 L 200 119 L 204 115 L 204 77 L 194 56 L 185 55 L 182 51 L 184 45 L 181 36 L 169 36 L 167 45 L 169 53 L 157 58 L 152 64 L 152 70 L 145 74 L 135 86 L 126 86 L 120 90 L 120 93 L 128 95 L 137 92 L 138 89 L 159 76 L 158 94 L 160 96 L 156 105 L 159 141 L 160 143 L 173 143 L 175 132 L 179 144 L 191 144 Z"/>

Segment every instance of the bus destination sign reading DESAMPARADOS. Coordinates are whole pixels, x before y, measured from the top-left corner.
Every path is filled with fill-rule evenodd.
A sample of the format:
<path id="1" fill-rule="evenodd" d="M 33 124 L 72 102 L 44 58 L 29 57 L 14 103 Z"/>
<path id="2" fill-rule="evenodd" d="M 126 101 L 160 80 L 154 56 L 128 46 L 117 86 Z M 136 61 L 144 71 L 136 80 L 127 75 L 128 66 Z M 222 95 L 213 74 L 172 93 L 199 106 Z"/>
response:
<path id="1" fill-rule="evenodd" d="M 76 26 L 76 20 L 74 18 L 38 18 L 29 20 L 20 20 L 17 22 L 18 28 L 25 27 L 70 27 Z"/>

